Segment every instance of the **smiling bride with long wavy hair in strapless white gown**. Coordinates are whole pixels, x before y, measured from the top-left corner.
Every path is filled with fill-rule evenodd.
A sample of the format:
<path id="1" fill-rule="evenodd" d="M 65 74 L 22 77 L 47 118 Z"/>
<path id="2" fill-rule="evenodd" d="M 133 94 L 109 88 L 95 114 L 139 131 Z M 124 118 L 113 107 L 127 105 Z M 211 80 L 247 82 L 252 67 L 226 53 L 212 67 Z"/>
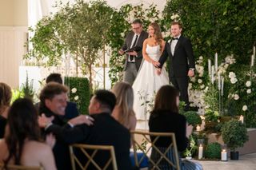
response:
<path id="1" fill-rule="evenodd" d="M 155 93 L 162 85 L 169 84 L 166 69 L 162 68 L 162 72 L 158 75 L 158 69 L 155 67 L 165 47 L 160 27 L 153 22 L 150 24 L 148 32 L 150 38 L 143 42 L 142 49 L 144 62 L 133 84 L 136 128 L 146 129 L 148 128 L 147 121 L 150 117 L 150 111 L 153 109 Z"/>

